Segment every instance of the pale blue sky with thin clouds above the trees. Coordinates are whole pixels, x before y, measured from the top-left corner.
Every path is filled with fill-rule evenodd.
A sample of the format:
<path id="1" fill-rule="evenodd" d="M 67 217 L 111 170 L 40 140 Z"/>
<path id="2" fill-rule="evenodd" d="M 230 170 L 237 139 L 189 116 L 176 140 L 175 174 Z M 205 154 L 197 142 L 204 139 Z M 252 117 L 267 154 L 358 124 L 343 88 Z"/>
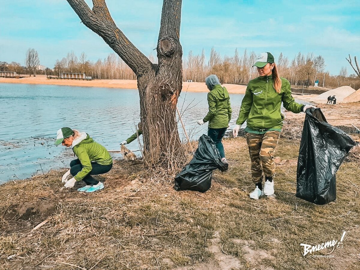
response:
<path id="1" fill-rule="evenodd" d="M 90 7 L 91 1 L 86 0 Z M 161 0 L 107 0 L 117 26 L 145 55 L 156 51 Z M 360 1 L 239 1 L 183 0 L 180 41 L 184 55 L 214 47 L 221 55 L 237 48 L 256 54 L 283 52 L 291 60 L 299 51 L 325 59 L 331 74 L 347 67 L 350 53 L 360 57 Z M 39 52 L 40 62 L 53 68 L 55 60 L 73 50 L 90 60 L 112 50 L 89 30 L 66 0 L 0 0 L 0 60 L 24 64 L 26 50 Z"/>

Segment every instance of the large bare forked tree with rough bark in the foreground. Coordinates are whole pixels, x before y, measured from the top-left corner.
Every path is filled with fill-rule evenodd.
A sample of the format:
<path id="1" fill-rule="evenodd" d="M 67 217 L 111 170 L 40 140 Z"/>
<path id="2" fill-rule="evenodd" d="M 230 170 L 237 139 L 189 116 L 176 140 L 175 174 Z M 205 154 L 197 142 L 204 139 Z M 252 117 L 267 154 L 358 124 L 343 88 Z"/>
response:
<path id="1" fill-rule="evenodd" d="M 182 86 L 181 0 L 163 0 L 158 64 L 153 64 L 116 26 L 105 0 L 93 0 L 92 9 L 84 0 L 67 1 L 82 23 L 102 37 L 136 74 L 145 162 L 148 167 L 162 165 L 172 170 L 172 160 L 181 154 L 175 116 Z"/>

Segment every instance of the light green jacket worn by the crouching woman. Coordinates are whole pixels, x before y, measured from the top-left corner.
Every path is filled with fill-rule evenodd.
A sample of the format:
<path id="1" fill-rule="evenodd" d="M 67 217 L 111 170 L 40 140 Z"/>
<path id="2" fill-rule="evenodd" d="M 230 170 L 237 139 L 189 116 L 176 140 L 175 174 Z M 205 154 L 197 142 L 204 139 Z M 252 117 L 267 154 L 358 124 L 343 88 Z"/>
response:
<path id="1" fill-rule="evenodd" d="M 82 140 L 72 148 L 82 165 L 82 170 L 74 176 L 76 181 L 84 179 L 84 177 L 93 169 L 91 161 L 101 165 L 112 164 L 112 158 L 108 150 L 91 139 L 89 134 L 86 135 L 86 139 Z"/>

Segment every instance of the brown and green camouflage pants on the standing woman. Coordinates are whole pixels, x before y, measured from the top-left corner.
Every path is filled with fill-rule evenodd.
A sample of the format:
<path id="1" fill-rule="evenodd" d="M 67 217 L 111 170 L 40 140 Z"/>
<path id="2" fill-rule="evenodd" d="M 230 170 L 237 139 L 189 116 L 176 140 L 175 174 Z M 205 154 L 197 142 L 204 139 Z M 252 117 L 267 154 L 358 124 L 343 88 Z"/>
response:
<path id="1" fill-rule="evenodd" d="M 261 182 L 263 175 L 275 175 L 273 153 L 279 136 L 279 131 L 268 131 L 265 134 L 246 133 L 251 158 L 251 179 L 254 183 Z"/>

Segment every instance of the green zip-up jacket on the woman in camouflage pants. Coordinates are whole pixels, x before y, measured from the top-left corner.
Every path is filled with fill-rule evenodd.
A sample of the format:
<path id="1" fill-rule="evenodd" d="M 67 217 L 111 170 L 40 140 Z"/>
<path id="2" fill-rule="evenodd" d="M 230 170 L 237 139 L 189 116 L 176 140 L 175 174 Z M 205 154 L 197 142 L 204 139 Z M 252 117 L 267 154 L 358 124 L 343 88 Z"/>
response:
<path id="1" fill-rule="evenodd" d="M 282 86 L 277 93 L 273 86 L 273 77 L 262 76 L 251 81 L 241 103 L 237 125 L 247 121 L 247 126 L 253 130 L 281 130 L 284 115 L 281 113 L 281 102 L 285 109 L 300 113 L 303 105 L 295 102 L 291 95 L 290 83 L 280 77 Z"/>

